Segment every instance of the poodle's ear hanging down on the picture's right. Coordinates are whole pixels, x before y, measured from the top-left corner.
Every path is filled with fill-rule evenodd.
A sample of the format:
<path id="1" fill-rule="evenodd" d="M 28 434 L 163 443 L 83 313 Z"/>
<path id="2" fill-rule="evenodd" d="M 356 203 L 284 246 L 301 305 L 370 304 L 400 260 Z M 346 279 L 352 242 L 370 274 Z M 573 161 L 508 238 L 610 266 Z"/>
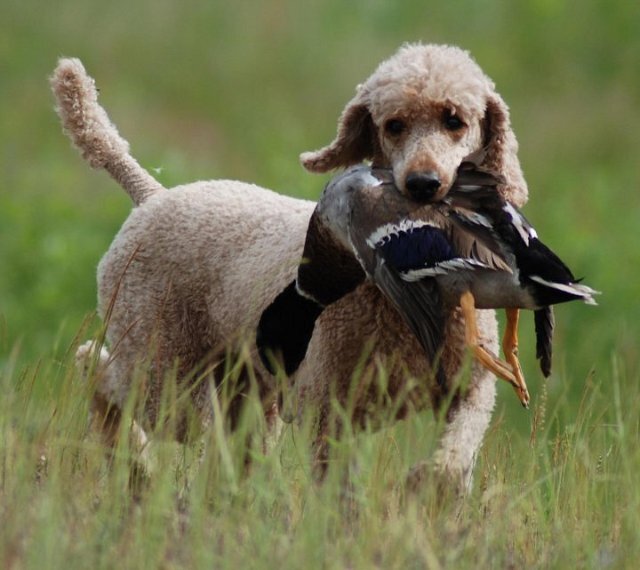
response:
<path id="1" fill-rule="evenodd" d="M 497 93 L 487 101 L 484 127 L 487 153 L 482 166 L 500 173 L 505 179 L 500 192 L 516 206 L 522 206 L 529 192 L 518 160 L 518 141 L 511 129 L 509 108 Z"/>

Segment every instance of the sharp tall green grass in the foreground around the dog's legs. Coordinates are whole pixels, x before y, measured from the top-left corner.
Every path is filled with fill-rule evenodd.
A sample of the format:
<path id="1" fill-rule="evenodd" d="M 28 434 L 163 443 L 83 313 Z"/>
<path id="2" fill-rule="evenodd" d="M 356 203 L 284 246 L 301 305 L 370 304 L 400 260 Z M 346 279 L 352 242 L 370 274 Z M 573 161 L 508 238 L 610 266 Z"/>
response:
<path id="1" fill-rule="evenodd" d="M 578 410 L 548 393 L 529 438 L 496 418 L 462 503 L 435 486 L 405 492 L 409 466 L 435 447 L 429 414 L 347 436 L 323 486 L 309 431 L 287 427 L 271 451 L 209 430 L 192 447 L 154 439 L 137 492 L 124 437 L 110 459 L 87 430 L 87 383 L 72 363 L 3 374 L 0 564 L 155 568 L 632 568 L 640 554 L 640 398 L 614 362 L 613 398 L 586 379 Z M 34 405 L 34 385 L 53 383 Z M 245 426 L 260 424 L 251 400 Z M 256 423 L 257 422 L 257 423 Z M 259 430 L 258 430 L 259 431 Z M 416 442 L 419 441 L 419 449 Z M 349 466 L 357 465 L 357 468 Z M 346 484 L 348 472 L 349 484 Z"/>

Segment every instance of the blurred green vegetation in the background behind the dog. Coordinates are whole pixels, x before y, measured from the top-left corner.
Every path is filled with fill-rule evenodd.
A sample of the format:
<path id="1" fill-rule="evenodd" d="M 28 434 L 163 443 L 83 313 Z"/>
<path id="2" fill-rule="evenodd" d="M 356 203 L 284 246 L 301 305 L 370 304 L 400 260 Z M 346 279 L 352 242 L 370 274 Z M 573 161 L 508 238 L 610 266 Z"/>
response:
<path id="1" fill-rule="evenodd" d="M 460 45 L 494 79 L 530 185 L 525 213 L 603 292 L 597 308 L 557 309 L 551 401 L 570 402 L 587 378 L 606 392 L 614 366 L 635 370 L 640 4 L 599 0 L 3 0 L 0 365 L 11 353 L 22 366 L 64 354 L 131 209 L 61 133 L 47 83 L 59 56 L 82 59 L 134 156 L 165 185 L 235 178 L 313 199 L 326 177 L 298 154 L 333 138 L 355 86 L 407 41 Z M 521 353 L 535 398 L 531 323 Z M 528 429 L 501 393 L 500 410 Z"/>

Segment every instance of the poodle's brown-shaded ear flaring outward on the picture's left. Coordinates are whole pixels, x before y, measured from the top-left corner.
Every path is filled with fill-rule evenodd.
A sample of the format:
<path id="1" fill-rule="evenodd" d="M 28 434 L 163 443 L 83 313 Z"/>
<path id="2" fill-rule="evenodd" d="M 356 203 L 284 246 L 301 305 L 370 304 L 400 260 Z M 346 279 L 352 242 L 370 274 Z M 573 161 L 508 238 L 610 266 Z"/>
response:
<path id="1" fill-rule="evenodd" d="M 302 153 L 300 161 L 311 172 L 327 172 L 373 158 L 376 148 L 376 128 L 358 93 L 342 112 L 335 140 L 320 150 Z"/>

